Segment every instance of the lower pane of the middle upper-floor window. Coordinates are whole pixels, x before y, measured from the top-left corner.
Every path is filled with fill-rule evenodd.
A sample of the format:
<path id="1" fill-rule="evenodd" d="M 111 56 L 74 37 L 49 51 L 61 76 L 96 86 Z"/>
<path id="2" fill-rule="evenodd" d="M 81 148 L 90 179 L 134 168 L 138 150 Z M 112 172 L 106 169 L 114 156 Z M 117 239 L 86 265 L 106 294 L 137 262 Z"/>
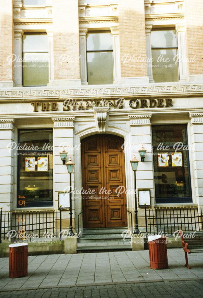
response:
<path id="1" fill-rule="evenodd" d="M 113 84 L 113 53 L 90 52 L 88 60 L 88 84 Z"/>

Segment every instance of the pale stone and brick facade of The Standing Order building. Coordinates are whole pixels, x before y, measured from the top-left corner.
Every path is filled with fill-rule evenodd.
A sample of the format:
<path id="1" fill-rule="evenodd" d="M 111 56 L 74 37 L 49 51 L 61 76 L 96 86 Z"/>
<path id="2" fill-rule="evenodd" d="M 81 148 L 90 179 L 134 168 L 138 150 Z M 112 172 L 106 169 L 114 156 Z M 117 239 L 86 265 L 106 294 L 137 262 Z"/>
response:
<path id="1" fill-rule="evenodd" d="M 146 194 L 203 205 L 203 0 L 0 4 L 3 210 L 67 207 L 64 147 L 74 227 L 130 228 L 142 144 L 139 226 Z"/>

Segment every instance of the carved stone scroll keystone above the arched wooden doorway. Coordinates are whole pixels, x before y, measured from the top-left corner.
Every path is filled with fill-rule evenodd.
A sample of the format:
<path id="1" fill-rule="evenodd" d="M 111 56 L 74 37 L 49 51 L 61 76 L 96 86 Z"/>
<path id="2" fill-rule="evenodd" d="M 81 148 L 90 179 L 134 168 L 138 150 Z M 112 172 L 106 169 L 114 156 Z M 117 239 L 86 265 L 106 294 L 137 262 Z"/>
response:
<path id="1" fill-rule="evenodd" d="M 109 120 L 109 108 L 94 108 L 96 128 L 100 132 L 105 132 Z"/>

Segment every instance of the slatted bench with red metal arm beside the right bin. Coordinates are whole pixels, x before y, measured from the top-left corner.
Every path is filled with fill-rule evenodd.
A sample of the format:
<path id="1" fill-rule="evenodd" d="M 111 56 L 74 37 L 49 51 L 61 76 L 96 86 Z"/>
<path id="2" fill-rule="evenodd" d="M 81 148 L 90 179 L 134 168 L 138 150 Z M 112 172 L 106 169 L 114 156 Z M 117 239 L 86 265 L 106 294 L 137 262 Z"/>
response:
<path id="1" fill-rule="evenodd" d="M 187 242 L 184 241 L 183 238 L 183 232 L 180 230 L 179 231 L 181 240 L 182 240 L 182 248 L 185 252 L 185 266 L 190 269 L 190 266 L 188 264 L 188 254 L 191 254 L 193 252 L 198 253 L 198 252 L 203 252 L 203 232 L 196 232 L 194 234 L 194 238 L 187 238 Z"/>

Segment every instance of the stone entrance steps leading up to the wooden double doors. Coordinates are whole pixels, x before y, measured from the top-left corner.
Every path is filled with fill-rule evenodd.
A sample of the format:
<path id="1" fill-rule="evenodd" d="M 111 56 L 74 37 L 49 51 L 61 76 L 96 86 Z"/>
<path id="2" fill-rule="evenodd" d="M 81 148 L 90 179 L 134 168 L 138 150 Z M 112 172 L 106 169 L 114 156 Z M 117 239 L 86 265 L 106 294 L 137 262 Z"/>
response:
<path id="1" fill-rule="evenodd" d="M 78 239 L 77 253 L 131 251 L 130 237 L 123 239 L 121 234 L 128 228 L 83 229 Z"/>

